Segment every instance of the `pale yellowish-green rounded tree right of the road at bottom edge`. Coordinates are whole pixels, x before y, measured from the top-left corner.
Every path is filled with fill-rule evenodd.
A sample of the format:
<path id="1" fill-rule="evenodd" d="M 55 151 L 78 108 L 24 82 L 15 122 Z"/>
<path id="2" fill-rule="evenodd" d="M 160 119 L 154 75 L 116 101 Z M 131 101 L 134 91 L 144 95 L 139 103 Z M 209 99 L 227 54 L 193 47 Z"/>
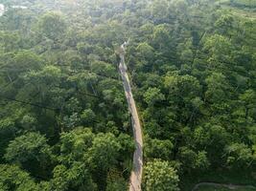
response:
<path id="1" fill-rule="evenodd" d="M 178 191 L 178 176 L 168 161 L 154 159 L 144 168 L 146 191 Z"/>

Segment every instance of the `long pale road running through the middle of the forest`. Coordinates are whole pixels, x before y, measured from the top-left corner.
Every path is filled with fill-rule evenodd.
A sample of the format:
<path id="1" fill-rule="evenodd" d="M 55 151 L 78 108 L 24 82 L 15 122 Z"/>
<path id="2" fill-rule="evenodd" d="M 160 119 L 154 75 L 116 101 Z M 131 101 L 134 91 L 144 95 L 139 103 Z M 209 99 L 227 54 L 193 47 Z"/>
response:
<path id="1" fill-rule="evenodd" d="M 143 139 L 136 104 L 132 96 L 129 84 L 127 65 L 125 63 L 125 48 L 127 45 L 128 42 L 125 42 L 123 45 L 121 45 L 121 61 L 119 64 L 119 71 L 122 76 L 124 89 L 128 100 L 128 109 L 131 114 L 133 137 L 136 146 L 135 152 L 133 154 L 133 169 L 131 171 L 131 175 L 129 178 L 129 191 L 141 191 L 141 180 L 143 170 Z"/>

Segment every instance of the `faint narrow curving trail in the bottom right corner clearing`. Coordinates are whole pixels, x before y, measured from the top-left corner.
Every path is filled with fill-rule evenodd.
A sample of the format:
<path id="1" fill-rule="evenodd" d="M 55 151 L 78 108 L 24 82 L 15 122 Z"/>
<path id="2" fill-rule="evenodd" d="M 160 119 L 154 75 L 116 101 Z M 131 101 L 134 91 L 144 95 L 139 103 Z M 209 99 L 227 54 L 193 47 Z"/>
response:
<path id="1" fill-rule="evenodd" d="M 232 183 L 228 184 L 228 183 L 217 183 L 217 182 L 200 182 L 200 183 L 198 183 L 194 186 L 192 191 L 197 191 L 198 188 L 202 185 L 225 187 L 225 188 L 228 188 L 230 190 L 237 190 L 237 189 L 241 189 L 241 188 L 250 188 L 250 189 L 255 189 L 256 190 L 256 187 L 253 186 L 253 185 L 236 185 L 236 184 L 232 184 Z"/>

